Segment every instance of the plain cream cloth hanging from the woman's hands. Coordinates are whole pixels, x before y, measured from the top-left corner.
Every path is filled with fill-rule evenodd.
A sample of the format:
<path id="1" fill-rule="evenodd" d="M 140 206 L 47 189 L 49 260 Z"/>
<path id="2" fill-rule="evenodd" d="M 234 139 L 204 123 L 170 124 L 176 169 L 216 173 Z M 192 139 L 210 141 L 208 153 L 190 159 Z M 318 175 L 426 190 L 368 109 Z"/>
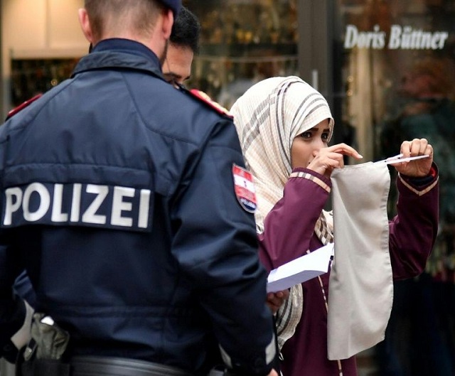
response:
<path id="1" fill-rule="evenodd" d="M 328 293 L 328 359 L 350 358 L 384 339 L 393 298 L 385 163 L 331 176 L 335 257 Z"/>

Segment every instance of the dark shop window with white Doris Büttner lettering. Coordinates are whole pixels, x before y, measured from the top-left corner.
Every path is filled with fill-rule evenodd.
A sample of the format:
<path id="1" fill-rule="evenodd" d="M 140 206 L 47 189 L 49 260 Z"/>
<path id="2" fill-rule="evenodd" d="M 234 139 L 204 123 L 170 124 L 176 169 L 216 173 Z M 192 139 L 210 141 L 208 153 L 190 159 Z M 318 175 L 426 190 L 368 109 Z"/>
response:
<path id="1" fill-rule="evenodd" d="M 454 16 L 453 0 L 336 1 L 338 124 L 366 161 L 426 138 L 439 168 L 436 243 L 422 274 L 395 281 L 392 316 L 375 353 L 379 375 L 455 374 Z M 390 173 L 392 217 L 395 168 Z"/>

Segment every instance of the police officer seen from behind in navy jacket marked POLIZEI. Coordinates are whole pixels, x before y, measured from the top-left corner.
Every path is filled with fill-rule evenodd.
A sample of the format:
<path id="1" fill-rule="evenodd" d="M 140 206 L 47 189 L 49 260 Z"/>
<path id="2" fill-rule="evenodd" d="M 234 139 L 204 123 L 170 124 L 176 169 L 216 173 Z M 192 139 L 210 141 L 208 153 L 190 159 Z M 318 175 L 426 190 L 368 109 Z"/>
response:
<path id="1" fill-rule="evenodd" d="M 86 0 L 94 48 L 0 127 L 0 345 L 23 375 L 277 375 L 232 119 L 160 63 L 176 0 Z M 10 357 L 11 358 L 11 357 Z"/>

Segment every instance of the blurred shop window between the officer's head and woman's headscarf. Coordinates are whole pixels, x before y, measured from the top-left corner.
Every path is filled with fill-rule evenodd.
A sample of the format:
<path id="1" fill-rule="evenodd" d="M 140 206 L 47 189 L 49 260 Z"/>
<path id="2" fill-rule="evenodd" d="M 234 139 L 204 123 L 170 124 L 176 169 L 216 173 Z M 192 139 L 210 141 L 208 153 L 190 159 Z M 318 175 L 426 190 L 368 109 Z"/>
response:
<path id="1" fill-rule="evenodd" d="M 198 16 L 202 35 L 188 86 L 225 107 L 254 82 L 296 75 L 296 0 L 183 1 Z"/>

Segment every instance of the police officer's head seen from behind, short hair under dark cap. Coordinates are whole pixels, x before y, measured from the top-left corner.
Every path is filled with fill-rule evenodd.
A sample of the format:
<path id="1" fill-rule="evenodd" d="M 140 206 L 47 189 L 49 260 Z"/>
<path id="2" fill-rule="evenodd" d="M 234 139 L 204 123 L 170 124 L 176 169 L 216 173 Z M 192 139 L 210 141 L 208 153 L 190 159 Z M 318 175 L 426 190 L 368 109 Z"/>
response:
<path id="1" fill-rule="evenodd" d="M 181 0 L 85 0 L 79 19 L 87 40 L 107 38 L 143 43 L 164 59 L 167 40 Z"/>

